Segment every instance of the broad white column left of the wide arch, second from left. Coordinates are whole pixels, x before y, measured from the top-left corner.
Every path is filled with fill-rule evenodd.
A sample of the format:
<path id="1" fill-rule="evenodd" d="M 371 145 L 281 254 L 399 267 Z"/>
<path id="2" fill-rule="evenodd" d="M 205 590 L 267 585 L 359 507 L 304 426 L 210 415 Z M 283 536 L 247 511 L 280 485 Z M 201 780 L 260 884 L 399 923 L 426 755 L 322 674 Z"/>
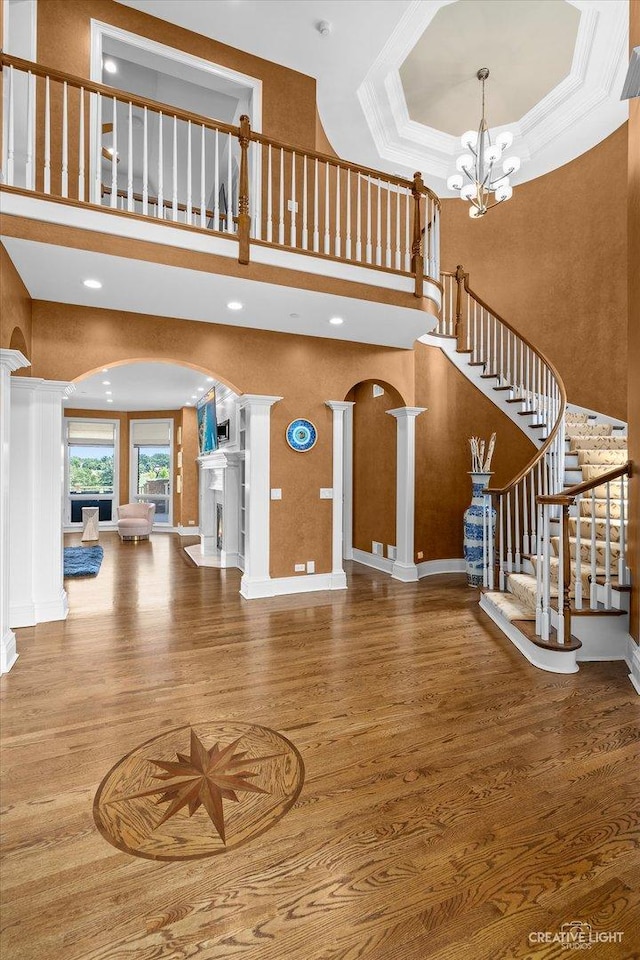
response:
<path id="1" fill-rule="evenodd" d="M 10 616 L 12 626 L 64 620 L 64 396 L 73 385 L 21 378 L 12 385 Z"/>

